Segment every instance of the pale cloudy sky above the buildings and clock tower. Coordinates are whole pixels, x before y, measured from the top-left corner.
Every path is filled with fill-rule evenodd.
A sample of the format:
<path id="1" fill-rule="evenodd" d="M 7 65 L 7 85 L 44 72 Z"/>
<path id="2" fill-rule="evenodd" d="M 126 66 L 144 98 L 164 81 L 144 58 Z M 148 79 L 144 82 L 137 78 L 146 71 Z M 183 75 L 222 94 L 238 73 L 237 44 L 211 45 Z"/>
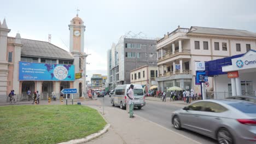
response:
<path id="1" fill-rule="evenodd" d="M 107 50 L 121 35 L 143 32 L 162 38 L 177 26 L 245 29 L 256 32 L 256 1 L 238 0 L 94 0 L 94 1 L 2 1 L 0 21 L 5 17 L 9 37 L 48 41 L 69 51 L 70 21 L 79 11 L 86 26 L 84 50 L 88 80 L 92 74 L 107 75 Z"/>

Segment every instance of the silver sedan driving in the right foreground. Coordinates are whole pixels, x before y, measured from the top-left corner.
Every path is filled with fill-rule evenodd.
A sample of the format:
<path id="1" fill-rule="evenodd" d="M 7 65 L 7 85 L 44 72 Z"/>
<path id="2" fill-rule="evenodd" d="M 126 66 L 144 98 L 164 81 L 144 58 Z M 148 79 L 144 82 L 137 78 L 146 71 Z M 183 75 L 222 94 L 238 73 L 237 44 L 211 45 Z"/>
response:
<path id="1" fill-rule="evenodd" d="M 256 104 L 242 100 L 200 100 L 172 113 L 176 129 L 189 129 L 218 143 L 256 143 Z"/>

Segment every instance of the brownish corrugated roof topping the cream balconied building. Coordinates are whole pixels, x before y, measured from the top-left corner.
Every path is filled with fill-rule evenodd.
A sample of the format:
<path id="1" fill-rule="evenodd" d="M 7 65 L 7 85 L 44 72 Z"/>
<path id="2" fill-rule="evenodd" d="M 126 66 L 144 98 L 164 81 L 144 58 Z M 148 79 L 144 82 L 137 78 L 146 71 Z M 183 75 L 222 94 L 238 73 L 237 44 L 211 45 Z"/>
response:
<path id="1" fill-rule="evenodd" d="M 192 26 L 188 33 L 202 33 L 202 34 L 217 34 L 217 35 L 232 35 L 238 37 L 255 37 L 256 33 L 248 32 L 238 29 L 224 29 L 224 28 L 211 28 L 211 27 L 195 27 Z"/>

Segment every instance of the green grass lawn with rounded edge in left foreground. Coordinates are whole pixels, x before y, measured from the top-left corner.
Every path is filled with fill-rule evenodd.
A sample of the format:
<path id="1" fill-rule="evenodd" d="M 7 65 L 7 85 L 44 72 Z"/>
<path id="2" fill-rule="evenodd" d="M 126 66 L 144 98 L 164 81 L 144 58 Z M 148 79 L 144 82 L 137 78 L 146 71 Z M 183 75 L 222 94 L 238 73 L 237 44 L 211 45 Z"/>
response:
<path id="1" fill-rule="evenodd" d="M 59 143 L 103 129 L 97 110 L 81 105 L 0 107 L 0 143 Z"/>

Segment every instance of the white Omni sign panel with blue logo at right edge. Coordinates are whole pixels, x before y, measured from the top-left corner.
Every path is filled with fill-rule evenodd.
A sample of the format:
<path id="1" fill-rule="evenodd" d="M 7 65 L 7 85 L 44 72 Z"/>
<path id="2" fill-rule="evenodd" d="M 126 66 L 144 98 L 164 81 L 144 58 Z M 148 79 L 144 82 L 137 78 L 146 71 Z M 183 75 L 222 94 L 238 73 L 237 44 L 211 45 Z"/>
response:
<path id="1" fill-rule="evenodd" d="M 256 68 L 256 55 L 233 58 L 232 67 L 233 70 Z"/>

